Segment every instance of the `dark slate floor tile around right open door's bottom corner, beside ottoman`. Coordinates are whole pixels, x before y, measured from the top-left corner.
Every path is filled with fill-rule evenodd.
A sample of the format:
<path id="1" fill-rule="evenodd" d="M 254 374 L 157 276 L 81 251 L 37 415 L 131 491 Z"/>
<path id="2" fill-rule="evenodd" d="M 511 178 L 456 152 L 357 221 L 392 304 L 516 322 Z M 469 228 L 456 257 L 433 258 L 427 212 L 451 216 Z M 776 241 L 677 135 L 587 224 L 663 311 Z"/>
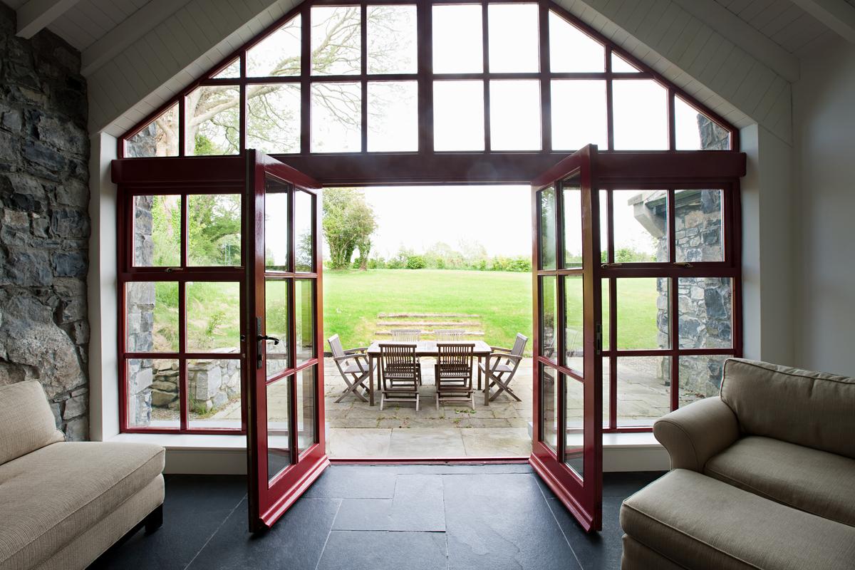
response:
<path id="1" fill-rule="evenodd" d="M 603 497 L 603 530 L 585 532 L 558 499 L 549 500 L 552 513 L 585 570 L 621 567 L 623 531 L 618 517 L 622 502 L 622 497 Z"/>

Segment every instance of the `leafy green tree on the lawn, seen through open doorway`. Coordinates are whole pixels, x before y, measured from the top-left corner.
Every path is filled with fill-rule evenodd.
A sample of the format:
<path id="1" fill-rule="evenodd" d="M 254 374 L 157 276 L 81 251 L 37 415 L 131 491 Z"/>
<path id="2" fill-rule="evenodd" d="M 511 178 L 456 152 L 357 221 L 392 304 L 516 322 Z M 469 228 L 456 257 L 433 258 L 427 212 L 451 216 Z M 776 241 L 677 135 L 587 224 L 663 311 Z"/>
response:
<path id="1" fill-rule="evenodd" d="M 365 202 L 362 192 L 353 188 L 324 190 L 321 226 L 329 245 L 332 269 L 350 267 L 351 257 L 357 248 L 360 267 L 368 267 L 371 234 L 377 229 L 377 222 L 374 220 L 374 210 Z"/>

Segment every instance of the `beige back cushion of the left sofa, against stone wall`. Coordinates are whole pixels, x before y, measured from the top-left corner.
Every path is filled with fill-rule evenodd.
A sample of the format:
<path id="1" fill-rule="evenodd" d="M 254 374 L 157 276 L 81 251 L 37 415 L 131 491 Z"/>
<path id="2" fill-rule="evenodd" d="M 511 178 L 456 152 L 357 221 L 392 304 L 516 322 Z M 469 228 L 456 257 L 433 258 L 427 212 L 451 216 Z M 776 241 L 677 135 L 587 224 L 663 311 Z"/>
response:
<path id="1" fill-rule="evenodd" d="M 65 438 L 35 380 L 0 387 L 0 465 Z"/>

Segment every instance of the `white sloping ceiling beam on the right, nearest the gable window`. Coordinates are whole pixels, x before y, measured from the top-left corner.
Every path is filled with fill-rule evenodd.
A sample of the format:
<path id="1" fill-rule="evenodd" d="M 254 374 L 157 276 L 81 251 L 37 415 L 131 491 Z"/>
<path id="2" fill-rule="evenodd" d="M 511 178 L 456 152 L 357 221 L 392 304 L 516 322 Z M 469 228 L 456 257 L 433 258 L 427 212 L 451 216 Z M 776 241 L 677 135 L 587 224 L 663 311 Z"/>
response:
<path id="1" fill-rule="evenodd" d="M 801 65 L 798 57 L 775 44 L 722 4 L 715 0 L 674 0 L 674 2 L 790 83 L 799 80 Z"/>

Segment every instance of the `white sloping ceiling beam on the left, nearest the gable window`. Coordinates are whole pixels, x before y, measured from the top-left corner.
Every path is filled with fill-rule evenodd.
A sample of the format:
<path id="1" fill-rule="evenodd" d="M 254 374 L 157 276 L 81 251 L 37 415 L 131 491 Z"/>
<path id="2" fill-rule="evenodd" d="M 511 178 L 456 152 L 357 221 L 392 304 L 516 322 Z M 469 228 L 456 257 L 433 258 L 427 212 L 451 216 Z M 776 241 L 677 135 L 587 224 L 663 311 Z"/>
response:
<path id="1" fill-rule="evenodd" d="M 151 0 L 83 50 L 80 55 L 80 73 L 85 76 L 91 75 L 104 63 L 119 55 L 129 45 L 181 9 L 187 2 L 189 0 Z"/>

